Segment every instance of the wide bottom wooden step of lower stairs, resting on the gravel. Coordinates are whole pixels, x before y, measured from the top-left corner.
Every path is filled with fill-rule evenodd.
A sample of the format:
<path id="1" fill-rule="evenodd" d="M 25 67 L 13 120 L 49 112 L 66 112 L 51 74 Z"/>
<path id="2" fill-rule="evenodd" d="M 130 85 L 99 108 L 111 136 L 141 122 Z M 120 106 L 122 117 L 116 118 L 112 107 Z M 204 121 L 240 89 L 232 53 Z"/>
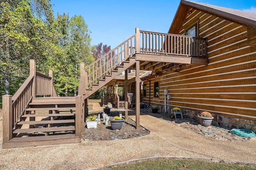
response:
<path id="1" fill-rule="evenodd" d="M 4 141 L 2 148 L 34 147 L 68 143 L 80 143 L 80 137 L 75 134 L 16 137 L 12 138 L 10 141 Z"/>

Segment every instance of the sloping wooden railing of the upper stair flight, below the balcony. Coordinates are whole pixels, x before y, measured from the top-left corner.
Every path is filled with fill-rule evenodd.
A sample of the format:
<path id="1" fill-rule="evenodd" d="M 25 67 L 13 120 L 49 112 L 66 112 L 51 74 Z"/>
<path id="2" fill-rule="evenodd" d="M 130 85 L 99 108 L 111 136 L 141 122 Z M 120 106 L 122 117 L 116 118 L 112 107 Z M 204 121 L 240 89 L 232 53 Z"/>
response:
<path id="1" fill-rule="evenodd" d="M 92 84 L 98 84 L 99 79 L 111 74 L 111 70 L 114 70 L 128 57 L 134 55 L 135 52 L 136 33 L 84 69 L 88 73 L 86 77 L 88 79 L 88 87 L 86 88 L 92 88 Z"/>

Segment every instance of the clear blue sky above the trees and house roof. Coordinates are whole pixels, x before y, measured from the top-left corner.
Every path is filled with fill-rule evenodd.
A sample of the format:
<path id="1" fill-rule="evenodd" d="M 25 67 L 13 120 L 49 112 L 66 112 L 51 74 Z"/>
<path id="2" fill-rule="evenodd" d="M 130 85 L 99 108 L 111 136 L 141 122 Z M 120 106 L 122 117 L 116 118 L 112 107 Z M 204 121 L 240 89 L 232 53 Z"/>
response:
<path id="1" fill-rule="evenodd" d="M 256 13 L 256 0 L 193 0 Z M 52 0 L 54 16 L 81 15 L 91 31 L 91 45 L 111 49 L 140 30 L 167 33 L 180 0 Z"/>

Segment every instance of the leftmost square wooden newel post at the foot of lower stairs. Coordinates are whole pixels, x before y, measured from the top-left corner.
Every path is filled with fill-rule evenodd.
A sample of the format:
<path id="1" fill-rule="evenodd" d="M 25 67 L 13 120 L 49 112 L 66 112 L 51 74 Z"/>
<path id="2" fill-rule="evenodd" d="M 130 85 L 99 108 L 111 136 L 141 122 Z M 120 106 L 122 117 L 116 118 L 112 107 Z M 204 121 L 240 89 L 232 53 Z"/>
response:
<path id="1" fill-rule="evenodd" d="M 3 99 L 3 143 L 12 139 L 12 96 L 4 95 Z"/>

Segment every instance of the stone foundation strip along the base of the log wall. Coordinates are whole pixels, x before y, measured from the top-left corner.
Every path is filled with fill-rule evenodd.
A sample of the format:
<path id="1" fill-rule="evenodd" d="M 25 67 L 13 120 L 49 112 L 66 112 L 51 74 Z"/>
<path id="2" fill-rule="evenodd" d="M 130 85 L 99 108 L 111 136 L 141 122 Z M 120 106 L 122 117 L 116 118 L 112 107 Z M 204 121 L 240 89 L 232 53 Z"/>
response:
<path id="1" fill-rule="evenodd" d="M 144 105 L 146 105 L 147 108 L 151 108 L 154 104 L 150 104 L 150 106 L 148 106 L 148 103 L 144 103 Z M 158 107 L 158 111 L 164 112 L 163 105 L 156 106 Z M 181 111 L 185 119 L 193 119 L 195 121 L 199 121 L 197 116 L 200 115 L 200 111 L 193 111 L 188 109 L 181 109 Z M 256 121 L 216 114 L 212 114 L 212 116 L 214 117 L 212 120 L 213 126 L 224 127 L 227 129 L 250 129 L 256 133 Z"/>

